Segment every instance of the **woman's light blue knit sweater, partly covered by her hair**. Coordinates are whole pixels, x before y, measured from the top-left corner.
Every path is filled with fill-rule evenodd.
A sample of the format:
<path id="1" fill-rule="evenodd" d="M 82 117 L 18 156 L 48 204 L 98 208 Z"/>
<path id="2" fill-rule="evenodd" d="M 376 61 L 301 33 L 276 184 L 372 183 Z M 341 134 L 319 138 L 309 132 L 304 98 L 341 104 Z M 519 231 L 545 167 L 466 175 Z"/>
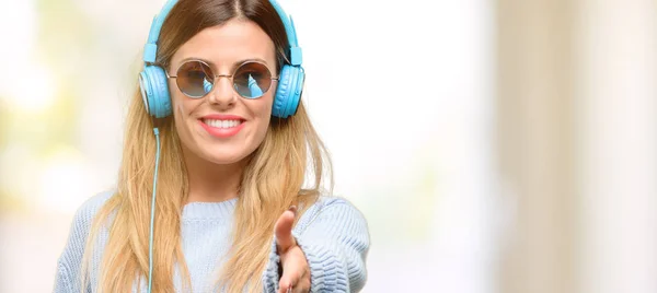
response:
<path id="1" fill-rule="evenodd" d="M 76 212 L 68 243 L 59 257 L 55 293 L 79 293 L 80 263 L 84 245 L 95 213 L 112 197 L 104 192 L 87 200 Z M 230 246 L 237 199 L 222 202 L 193 202 L 183 208 L 182 245 L 189 269 L 194 292 L 217 292 L 212 284 L 222 256 Z M 367 279 L 366 257 L 369 249 L 369 232 L 362 214 L 348 201 L 336 197 L 320 197 L 298 221 L 292 235 L 310 266 L 311 292 L 358 292 Z M 90 267 L 91 286 L 85 292 L 96 292 L 99 266 L 108 231 L 102 231 Z M 157 239 L 155 239 L 157 241 Z M 278 290 L 279 257 L 276 244 L 262 278 L 266 293 Z M 145 280 L 145 279 L 142 279 Z M 176 292 L 181 291 L 181 278 L 175 272 Z M 147 281 L 142 281 L 148 283 Z M 132 292 L 147 292 L 146 288 Z"/>

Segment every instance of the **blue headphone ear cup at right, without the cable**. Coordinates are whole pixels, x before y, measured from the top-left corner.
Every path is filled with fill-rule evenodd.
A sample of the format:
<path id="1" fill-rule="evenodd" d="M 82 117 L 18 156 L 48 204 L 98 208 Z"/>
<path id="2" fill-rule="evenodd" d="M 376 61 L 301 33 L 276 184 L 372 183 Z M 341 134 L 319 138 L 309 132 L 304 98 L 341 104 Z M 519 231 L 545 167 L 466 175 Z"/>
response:
<path id="1" fill-rule="evenodd" d="M 274 97 L 273 116 L 287 118 L 297 113 L 304 78 L 303 68 L 293 66 L 283 67 Z"/>

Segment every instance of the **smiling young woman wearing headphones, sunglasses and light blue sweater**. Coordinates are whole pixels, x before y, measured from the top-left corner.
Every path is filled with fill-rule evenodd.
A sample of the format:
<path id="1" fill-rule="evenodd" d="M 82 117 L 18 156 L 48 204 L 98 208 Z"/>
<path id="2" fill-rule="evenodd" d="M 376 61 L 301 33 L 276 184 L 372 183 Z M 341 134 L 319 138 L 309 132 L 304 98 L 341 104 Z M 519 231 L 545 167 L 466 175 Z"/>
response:
<path id="1" fill-rule="evenodd" d="M 362 289 L 367 222 L 321 187 L 331 164 L 295 34 L 275 1 L 165 4 L 116 190 L 76 213 L 55 292 Z"/>

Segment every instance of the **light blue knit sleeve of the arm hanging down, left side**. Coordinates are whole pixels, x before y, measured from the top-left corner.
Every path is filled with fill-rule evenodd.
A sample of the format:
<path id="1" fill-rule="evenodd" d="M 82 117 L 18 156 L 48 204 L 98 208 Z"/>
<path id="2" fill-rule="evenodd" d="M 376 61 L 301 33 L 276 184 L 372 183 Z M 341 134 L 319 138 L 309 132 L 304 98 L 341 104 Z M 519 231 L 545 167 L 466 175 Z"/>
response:
<path id="1" fill-rule="evenodd" d="M 84 246 L 95 212 L 105 202 L 111 194 L 100 194 L 87 200 L 73 215 L 68 242 L 57 260 L 54 293 L 80 293 L 81 276 L 80 266 L 84 255 Z M 91 292 L 87 288 L 84 292 Z"/>

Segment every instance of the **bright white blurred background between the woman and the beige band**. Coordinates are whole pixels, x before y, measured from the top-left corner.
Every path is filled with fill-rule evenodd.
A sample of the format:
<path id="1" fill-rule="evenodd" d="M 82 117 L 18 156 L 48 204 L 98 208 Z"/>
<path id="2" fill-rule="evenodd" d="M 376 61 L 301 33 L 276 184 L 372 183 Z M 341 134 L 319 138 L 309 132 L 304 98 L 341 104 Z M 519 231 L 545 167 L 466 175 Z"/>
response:
<path id="1" fill-rule="evenodd" d="M 281 1 L 337 191 L 372 232 L 366 292 L 493 292 L 493 9 Z"/>

